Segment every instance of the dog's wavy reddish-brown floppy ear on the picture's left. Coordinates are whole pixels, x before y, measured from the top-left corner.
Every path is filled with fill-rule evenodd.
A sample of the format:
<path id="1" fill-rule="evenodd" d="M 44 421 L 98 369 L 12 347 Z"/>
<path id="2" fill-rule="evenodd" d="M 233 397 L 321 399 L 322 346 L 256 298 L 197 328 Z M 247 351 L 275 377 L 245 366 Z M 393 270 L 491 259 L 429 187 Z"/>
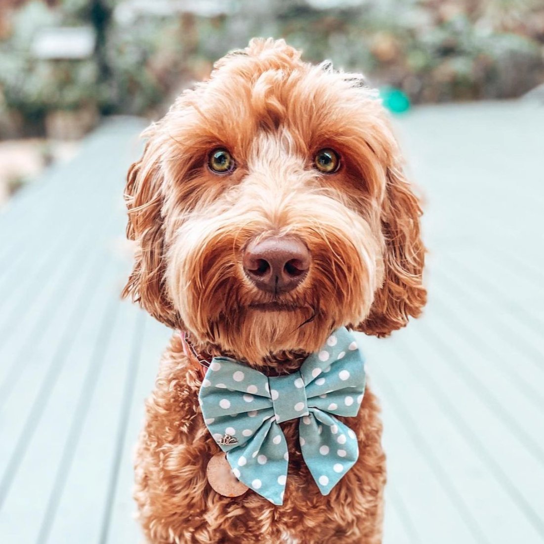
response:
<path id="1" fill-rule="evenodd" d="M 148 142 L 143 156 L 128 170 L 125 201 L 128 208 L 127 238 L 134 240 L 134 268 L 122 296 L 131 296 L 154 318 L 171 327 L 179 317 L 165 289 L 163 174 L 160 161 Z"/>

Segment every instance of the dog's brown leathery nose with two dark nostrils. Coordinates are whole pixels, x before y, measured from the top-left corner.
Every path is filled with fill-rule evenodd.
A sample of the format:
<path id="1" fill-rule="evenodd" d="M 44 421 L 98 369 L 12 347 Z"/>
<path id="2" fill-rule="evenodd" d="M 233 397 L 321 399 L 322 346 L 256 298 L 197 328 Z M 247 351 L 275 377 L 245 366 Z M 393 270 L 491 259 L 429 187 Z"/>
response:
<path id="1" fill-rule="evenodd" d="M 242 264 L 259 289 L 279 294 L 287 293 L 304 280 L 310 262 L 310 251 L 302 240 L 282 236 L 250 242 Z"/>

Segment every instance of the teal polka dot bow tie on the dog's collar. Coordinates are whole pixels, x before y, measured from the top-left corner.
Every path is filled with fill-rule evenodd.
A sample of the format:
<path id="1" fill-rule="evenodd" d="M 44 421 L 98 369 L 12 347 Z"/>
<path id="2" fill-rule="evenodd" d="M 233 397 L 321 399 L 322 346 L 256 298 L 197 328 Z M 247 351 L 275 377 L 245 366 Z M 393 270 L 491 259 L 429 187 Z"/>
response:
<path id="1" fill-rule="evenodd" d="M 355 433 L 335 416 L 356 416 L 364 361 L 347 329 L 339 329 L 294 374 L 268 378 L 228 357 L 214 357 L 199 400 L 208 430 L 234 475 L 274 504 L 283 504 L 289 454 L 279 423 L 300 419 L 300 449 L 327 495 L 359 455 Z"/>

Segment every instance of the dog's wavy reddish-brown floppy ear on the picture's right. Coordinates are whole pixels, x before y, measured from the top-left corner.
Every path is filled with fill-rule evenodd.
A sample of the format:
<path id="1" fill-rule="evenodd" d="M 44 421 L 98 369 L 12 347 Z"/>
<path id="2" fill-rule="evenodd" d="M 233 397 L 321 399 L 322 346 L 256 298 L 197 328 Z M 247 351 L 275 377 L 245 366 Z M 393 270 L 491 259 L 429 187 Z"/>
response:
<path id="1" fill-rule="evenodd" d="M 387 169 L 387 191 L 381 225 L 386 249 L 385 277 L 375 293 L 368 318 L 357 328 L 369 335 L 388 336 L 418 317 L 427 293 L 422 285 L 425 248 L 419 218 L 422 211 L 400 164 Z"/>

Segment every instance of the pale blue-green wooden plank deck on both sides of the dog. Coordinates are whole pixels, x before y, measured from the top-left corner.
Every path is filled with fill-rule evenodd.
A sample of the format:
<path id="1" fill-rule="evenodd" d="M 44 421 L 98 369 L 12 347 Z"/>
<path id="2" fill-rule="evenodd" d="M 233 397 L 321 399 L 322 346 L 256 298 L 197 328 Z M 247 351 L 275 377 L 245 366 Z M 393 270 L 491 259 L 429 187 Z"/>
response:
<path id="1" fill-rule="evenodd" d="M 140 542 L 131 455 L 169 331 L 119 292 L 127 166 L 109 122 L 0 215 L 0 542 Z M 544 543 L 544 108 L 399 121 L 426 195 L 425 316 L 364 338 L 385 544 Z M 333 544 L 333 543 L 331 543 Z"/>

